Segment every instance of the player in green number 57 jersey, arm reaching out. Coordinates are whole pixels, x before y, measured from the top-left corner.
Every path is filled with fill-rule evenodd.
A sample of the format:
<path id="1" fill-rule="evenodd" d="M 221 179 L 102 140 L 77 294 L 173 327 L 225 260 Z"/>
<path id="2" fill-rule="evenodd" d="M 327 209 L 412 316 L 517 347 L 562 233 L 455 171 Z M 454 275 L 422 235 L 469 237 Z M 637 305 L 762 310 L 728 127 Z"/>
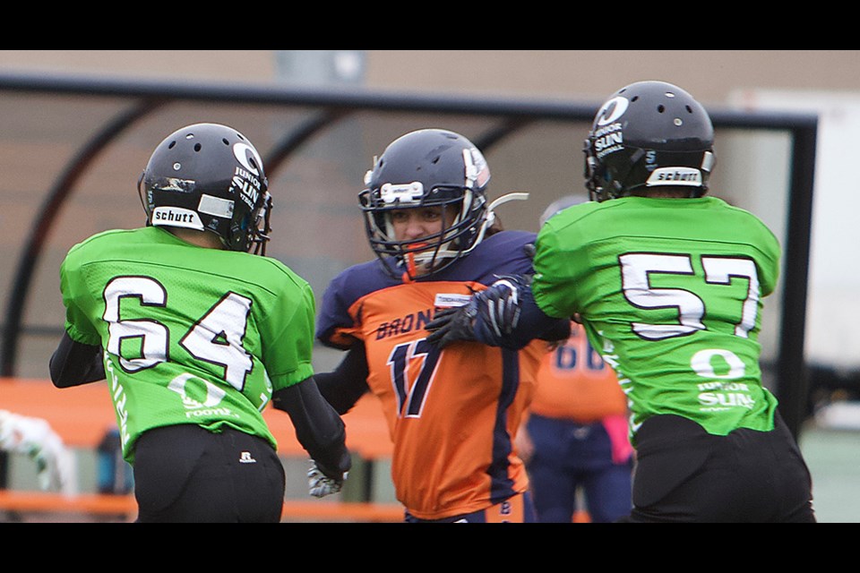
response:
<path id="1" fill-rule="evenodd" d="M 814 522 L 809 469 L 761 383 L 761 299 L 777 284 L 779 243 L 752 213 L 706 196 L 713 145 L 710 115 L 685 90 L 615 92 L 585 141 L 593 201 L 541 227 L 534 280 L 478 293 L 428 324 L 429 339 L 517 347 L 579 316 L 631 408 L 624 521 Z M 488 301 L 506 312 L 474 312 Z"/>

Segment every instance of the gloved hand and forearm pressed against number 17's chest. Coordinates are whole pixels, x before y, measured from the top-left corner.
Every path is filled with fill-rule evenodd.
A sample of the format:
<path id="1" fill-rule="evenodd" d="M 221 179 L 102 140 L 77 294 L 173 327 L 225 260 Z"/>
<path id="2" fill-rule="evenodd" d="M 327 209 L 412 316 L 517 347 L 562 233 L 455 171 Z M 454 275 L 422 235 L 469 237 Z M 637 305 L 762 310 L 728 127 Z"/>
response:
<path id="1" fill-rule="evenodd" d="M 437 312 L 427 323 L 427 341 L 441 348 L 458 340 L 519 350 L 534 340 L 570 337 L 571 321 L 543 312 L 531 292 L 529 277 L 504 277 L 472 295 L 469 303 Z"/>

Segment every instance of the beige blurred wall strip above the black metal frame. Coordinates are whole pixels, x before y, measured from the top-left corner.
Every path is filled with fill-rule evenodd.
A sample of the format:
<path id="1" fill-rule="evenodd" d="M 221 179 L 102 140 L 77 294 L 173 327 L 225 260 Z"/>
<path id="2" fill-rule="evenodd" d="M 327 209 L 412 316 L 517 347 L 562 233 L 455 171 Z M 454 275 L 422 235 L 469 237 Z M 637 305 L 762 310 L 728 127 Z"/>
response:
<path id="1" fill-rule="evenodd" d="M 860 90 L 857 50 L 2 50 L 0 69 L 580 99 L 663 80 L 705 105 L 738 90 Z"/>

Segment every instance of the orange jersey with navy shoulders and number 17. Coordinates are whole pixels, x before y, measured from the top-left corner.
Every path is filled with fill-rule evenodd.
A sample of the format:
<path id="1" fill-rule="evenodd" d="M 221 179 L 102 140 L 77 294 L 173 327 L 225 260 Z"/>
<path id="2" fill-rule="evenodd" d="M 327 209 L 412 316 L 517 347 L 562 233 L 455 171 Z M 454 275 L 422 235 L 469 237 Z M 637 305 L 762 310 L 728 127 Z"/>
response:
<path id="1" fill-rule="evenodd" d="M 434 312 L 464 304 L 499 275 L 529 272 L 522 245 L 534 235 L 504 231 L 432 280 L 389 278 L 380 261 L 335 278 L 317 335 L 330 346 L 366 346 L 368 386 L 380 399 L 394 444 L 398 500 L 421 519 L 486 509 L 529 487 L 513 446 L 546 343 L 517 351 L 426 341 Z M 348 432 L 348 428 L 347 428 Z"/>

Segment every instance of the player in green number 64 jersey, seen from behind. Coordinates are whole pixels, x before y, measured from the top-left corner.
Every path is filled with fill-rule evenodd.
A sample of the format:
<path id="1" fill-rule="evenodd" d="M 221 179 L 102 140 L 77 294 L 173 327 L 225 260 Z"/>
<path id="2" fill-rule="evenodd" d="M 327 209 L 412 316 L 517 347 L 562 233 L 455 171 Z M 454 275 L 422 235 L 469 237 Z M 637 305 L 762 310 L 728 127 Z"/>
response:
<path id="1" fill-rule="evenodd" d="M 137 520 L 279 522 L 270 402 L 312 458 L 311 494 L 340 491 L 350 456 L 314 382 L 314 294 L 265 256 L 257 150 L 226 125 L 188 125 L 153 151 L 138 191 L 146 227 L 93 235 L 65 257 L 65 333 L 50 361 L 57 388 L 107 375 Z"/>

